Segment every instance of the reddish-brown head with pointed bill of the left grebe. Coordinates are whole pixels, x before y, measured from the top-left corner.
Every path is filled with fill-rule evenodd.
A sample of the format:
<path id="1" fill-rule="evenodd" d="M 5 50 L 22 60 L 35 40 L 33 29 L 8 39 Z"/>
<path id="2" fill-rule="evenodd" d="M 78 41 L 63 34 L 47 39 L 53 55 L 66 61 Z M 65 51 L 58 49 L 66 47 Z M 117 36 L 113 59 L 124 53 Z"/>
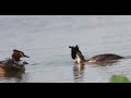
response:
<path id="1" fill-rule="evenodd" d="M 21 61 L 20 58 L 23 58 L 23 57 L 29 58 L 28 56 L 25 56 L 25 53 L 20 50 L 16 50 L 16 49 L 13 50 L 12 59 L 14 59 L 15 61 Z"/>

